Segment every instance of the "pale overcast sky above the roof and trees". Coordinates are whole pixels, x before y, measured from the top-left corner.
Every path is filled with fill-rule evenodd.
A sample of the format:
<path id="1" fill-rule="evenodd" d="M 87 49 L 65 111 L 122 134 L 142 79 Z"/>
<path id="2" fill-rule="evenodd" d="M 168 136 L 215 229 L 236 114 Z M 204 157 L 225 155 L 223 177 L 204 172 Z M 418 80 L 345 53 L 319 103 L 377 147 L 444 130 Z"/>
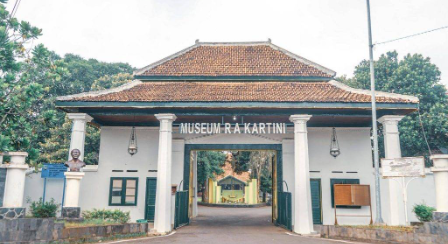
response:
<path id="1" fill-rule="evenodd" d="M 11 10 L 15 0 L 9 0 Z M 448 25 L 446 0 L 371 0 L 373 40 Z M 141 68 L 200 41 L 265 41 L 352 76 L 368 58 L 365 0 L 22 0 L 16 14 L 43 29 L 39 42 Z M 421 53 L 448 85 L 448 29 L 375 48 Z"/>

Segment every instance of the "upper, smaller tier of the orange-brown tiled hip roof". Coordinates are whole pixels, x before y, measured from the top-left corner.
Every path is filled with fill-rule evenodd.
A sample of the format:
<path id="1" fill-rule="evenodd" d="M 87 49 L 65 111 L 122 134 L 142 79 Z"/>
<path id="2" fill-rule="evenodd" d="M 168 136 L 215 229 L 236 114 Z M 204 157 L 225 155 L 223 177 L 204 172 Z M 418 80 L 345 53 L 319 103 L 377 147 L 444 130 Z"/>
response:
<path id="1" fill-rule="evenodd" d="M 202 43 L 135 73 L 138 76 L 324 77 L 335 72 L 270 42 Z"/>

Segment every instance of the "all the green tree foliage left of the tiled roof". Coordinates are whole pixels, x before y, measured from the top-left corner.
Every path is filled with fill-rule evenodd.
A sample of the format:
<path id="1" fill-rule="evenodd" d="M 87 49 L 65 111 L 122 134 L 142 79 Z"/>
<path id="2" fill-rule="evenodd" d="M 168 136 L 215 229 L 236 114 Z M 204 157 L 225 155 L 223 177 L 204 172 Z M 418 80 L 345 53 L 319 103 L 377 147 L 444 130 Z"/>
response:
<path id="1" fill-rule="evenodd" d="M 32 45 L 42 31 L 11 17 L 0 2 L 0 151 L 27 151 L 28 163 L 67 159 L 71 122 L 55 108 L 58 96 L 112 88 L 133 68 L 74 54 L 60 57 Z M 95 85 L 94 85 L 95 84 Z M 99 129 L 88 126 L 84 161 L 98 161 Z"/>

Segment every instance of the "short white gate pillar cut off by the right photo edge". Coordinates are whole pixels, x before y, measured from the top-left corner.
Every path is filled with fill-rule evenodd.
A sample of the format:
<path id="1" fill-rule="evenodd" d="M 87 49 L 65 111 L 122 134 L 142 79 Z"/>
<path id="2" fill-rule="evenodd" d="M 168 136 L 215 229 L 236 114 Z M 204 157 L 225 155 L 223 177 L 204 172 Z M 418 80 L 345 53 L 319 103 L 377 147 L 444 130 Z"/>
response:
<path id="1" fill-rule="evenodd" d="M 436 188 L 437 212 L 448 212 L 448 155 L 439 154 L 431 156 L 434 167 L 434 183 Z"/>

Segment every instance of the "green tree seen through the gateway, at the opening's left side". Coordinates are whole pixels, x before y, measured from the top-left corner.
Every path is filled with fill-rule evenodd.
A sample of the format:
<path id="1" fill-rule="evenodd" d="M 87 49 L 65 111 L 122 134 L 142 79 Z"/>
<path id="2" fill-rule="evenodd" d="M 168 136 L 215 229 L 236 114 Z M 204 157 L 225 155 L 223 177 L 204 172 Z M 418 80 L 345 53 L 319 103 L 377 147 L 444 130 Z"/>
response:
<path id="1" fill-rule="evenodd" d="M 226 160 L 226 154 L 221 151 L 198 151 L 197 174 L 198 188 L 202 190 L 202 201 L 205 200 L 208 179 L 215 179 L 217 175 L 224 173 L 221 168 Z"/>

